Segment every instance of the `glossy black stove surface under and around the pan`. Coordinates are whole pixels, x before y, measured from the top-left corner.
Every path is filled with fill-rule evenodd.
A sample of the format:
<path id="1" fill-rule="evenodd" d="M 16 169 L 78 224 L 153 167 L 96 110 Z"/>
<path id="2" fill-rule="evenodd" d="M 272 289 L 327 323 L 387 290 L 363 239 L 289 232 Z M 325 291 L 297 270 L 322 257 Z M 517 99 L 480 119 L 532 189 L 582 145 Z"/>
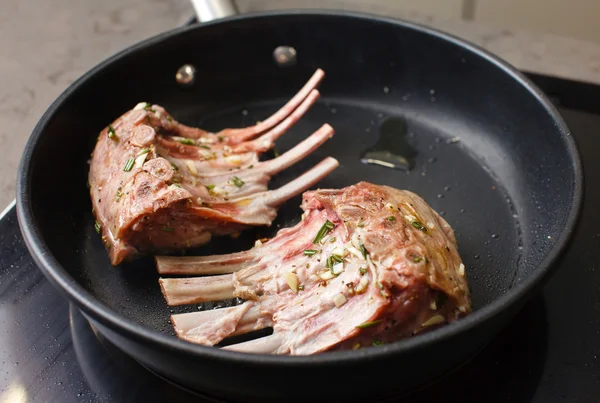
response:
<path id="1" fill-rule="evenodd" d="M 397 401 L 600 401 L 600 87 L 530 76 L 560 106 L 583 156 L 577 233 L 541 295 L 492 343 Z M 0 402 L 163 401 L 218 400 L 178 388 L 96 334 L 37 269 L 11 209 L 0 220 Z"/>

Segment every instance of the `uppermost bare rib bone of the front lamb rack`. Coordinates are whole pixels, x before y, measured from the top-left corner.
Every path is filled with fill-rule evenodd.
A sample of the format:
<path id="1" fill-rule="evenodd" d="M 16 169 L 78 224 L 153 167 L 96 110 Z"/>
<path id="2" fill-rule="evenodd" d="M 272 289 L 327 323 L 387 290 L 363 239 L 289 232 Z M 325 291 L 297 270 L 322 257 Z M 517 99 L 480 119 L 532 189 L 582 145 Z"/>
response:
<path id="1" fill-rule="evenodd" d="M 213 256 L 156 256 L 159 274 L 226 274 L 248 267 L 254 262 L 254 251 Z"/>

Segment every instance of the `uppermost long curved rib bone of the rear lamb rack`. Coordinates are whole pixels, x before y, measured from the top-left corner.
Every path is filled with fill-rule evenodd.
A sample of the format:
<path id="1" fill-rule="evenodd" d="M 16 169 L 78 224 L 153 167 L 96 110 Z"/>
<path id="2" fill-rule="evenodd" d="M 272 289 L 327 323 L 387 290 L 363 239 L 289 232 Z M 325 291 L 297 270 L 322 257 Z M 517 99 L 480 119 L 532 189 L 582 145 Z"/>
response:
<path id="1" fill-rule="evenodd" d="M 311 93 L 311 91 L 319 85 L 324 77 L 325 72 L 321 69 L 317 69 L 313 76 L 306 82 L 306 84 L 304 84 L 304 87 L 302 87 L 302 89 L 298 91 L 298 93 L 294 95 L 294 97 L 290 99 L 287 104 L 285 104 L 281 109 L 267 119 L 256 124 L 255 126 L 242 129 L 225 129 L 219 134 L 233 137 L 235 138 L 236 142 L 242 142 L 271 129 L 285 119 L 288 115 L 290 115 L 296 108 L 298 108 L 298 105 L 300 105 L 302 101 Z"/>

